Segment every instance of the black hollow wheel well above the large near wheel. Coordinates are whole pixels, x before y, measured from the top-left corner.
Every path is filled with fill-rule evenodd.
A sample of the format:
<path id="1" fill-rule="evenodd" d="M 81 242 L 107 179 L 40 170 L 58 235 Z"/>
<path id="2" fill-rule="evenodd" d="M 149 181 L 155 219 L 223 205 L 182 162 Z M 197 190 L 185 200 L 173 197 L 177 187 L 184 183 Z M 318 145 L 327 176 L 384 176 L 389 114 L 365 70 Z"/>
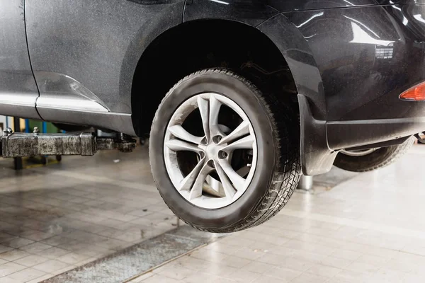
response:
<path id="1" fill-rule="evenodd" d="M 198 35 L 196 35 L 197 31 L 202 31 L 202 33 L 208 34 L 208 36 L 217 39 L 219 38 L 217 34 L 211 35 L 211 32 L 215 29 L 215 25 L 219 26 L 220 28 L 225 27 L 225 30 L 220 30 L 220 35 L 224 35 L 223 37 L 227 40 L 232 36 L 239 39 L 242 38 L 243 35 L 239 35 L 239 33 L 243 33 L 244 35 L 250 33 L 255 37 L 252 42 L 255 40 L 262 40 L 263 42 L 266 42 L 266 47 L 263 49 L 263 54 L 266 54 L 265 57 L 268 57 L 268 61 L 274 60 L 275 62 L 280 62 L 281 64 L 285 64 L 285 67 L 288 68 L 288 62 L 286 62 L 285 57 L 279 51 L 278 46 L 273 42 L 273 40 L 271 40 L 265 33 L 261 32 L 261 30 L 255 28 L 255 26 L 251 24 L 252 23 L 237 21 L 230 18 L 193 19 L 191 21 L 184 21 L 180 25 L 169 28 L 168 30 L 165 30 L 163 33 L 155 37 L 154 40 L 152 40 L 152 42 L 150 42 L 142 52 L 142 55 L 137 62 L 137 67 L 135 68 L 132 79 L 132 123 L 137 135 L 142 136 L 146 132 L 149 132 L 154 110 L 156 110 L 157 106 L 169 88 L 171 88 L 184 76 L 187 76 L 188 74 L 191 74 L 194 71 L 198 71 L 200 69 L 208 69 L 212 67 L 234 69 L 235 64 L 239 63 L 237 61 L 239 58 L 235 59 L 234 62 L 226 62 L 227 59 L 229 59 L 228 57 L 231 56 L 227 56 L 225 53 L 233 52 L 232 54 L 234 54 L 235 52 L 234 48 L 232 50 L 232 44 L 227 43 L 227 50 L 224 48 L 222 50 L 218 50 L 218 52 L 221 54 L 219 54 L 216 59 L 211 59 L 210 56 L 213 56 L 214 54 L 210 54 L 211 50 L 208 50 L 207 47 L 202 47 L 205 47 L 205 52 L 198 52 L 195 47 L 191 47 L 190 43 L 184 43 L 185 40 L 188 40 L 188 38 L 191 36 L 196 37 L 196 40 L 199 40 Z M 179 41 L 173 41 L 176 39 Z M 221 40 L 225 42 L 225 39 Z M 193 41 L 194 40 L 191 40 L 191 42 Z M 237 42 L 237 40 L 233 41 Z M 246 48 L 246 50 L 249 50 L 249 48 Z M 273 52 L 267 52 L 270 50 L 273 50 Z M 217 50 L 212 50 L 211 52 L 213 53 L 215 51 Z M 203 57 L 206 57 L 206 60 L 200 62 L 202 60 L 199 57 L 196 58 L 196 54 L 202 54 Z M 181 58 L 185 58 L 186 61 L 183 62 Z M 196 58 L 196 60 L 193 58 Z M 182 64 L 179 65 L 179 63 Z M 188 66 L 189 64 L 192 64 L 192 66 Z M 159 67 L 166 67 L 166 69 L 164 68 L 161 71 Z M 268 69 L 266 71 L 270 70 Z M 297 88 L 293 81 L 294 78 L 290 73 L 290 69 L 287 71 L 288 74 L 290 74 L 290 78 L 288 78 L 288 80 L 290 80 L 290 83 L 293 83 L 293 86 L 290 86 L 290 88 L 293 91 L 293 97 L 295 97 L 295 94 L 297 94 Z M 174 77 L 166 78 L 166 80 L 171 80 L 164 83 L 168 88 L 163 88 L 160 86 L 160 88 L 162 88 L 161 91 L 156 89 L 153 92 L 151 89 L 149 89 L 149 86 L 154 81 L 153 79 L 157 79 L 158 81 L 163 80 L 164 76 L 167 76 L 169 73 L 173 73 L 172 76 Z M 240 74 L 239 72 L 237 73 Z M 160 76 L 159 79 L 158 76 Z M 254 80 L 251 77 L 248 77 L 247 79 L 250 79 L 251 81 Z M 255 81 L 253 82 L 256 83 Z M 146 86 L 148 86 L 148 89 L 146 89 Z M 145 101 L 147 98 L 149 98 L 149 102 Z M 151 108 L 151 106 L 152 109 L 147 109 Z"/>

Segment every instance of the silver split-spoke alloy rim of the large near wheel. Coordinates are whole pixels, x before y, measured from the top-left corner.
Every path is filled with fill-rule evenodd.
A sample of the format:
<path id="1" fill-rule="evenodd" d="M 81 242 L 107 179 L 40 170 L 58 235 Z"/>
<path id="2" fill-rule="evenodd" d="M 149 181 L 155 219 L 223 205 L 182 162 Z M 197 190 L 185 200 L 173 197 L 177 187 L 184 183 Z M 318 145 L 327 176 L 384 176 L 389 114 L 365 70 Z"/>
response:
<path id="1" fill-rule="evenodd" d="M 242 121 L 234 129 L 219 124 L 222 105 Z M 203 137 L 183 127 L 195 110 L 200 114 Z M 237 150 L 237 154 L 247 152 L 251 158 L 242 167 L 234 168 Z M 196 156 L 188 173 L 183 173 L 180 166 L 179 152 L 183 151 Z M 257 163 L 254 129 L 233 100 L 217 93 L 198 94 L 184 101 L 171 117 L 164 137 L 164 161 L 171 183 L 188 202 L 205 209 L 226 207 L 244 194 L 254 176 Z"/>

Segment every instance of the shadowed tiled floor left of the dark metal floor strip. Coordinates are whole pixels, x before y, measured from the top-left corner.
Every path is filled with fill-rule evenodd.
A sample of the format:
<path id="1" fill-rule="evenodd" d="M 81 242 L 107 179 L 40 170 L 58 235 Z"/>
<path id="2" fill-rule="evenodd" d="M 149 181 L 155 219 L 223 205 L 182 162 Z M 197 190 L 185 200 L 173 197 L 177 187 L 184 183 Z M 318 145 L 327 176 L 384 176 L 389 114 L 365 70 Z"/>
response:
<path id="1" fill-rule="evenodd" d="M 39 282 L 178 225 L 146 147 L 21 172 L 0 160 L 0 283 Z"/>

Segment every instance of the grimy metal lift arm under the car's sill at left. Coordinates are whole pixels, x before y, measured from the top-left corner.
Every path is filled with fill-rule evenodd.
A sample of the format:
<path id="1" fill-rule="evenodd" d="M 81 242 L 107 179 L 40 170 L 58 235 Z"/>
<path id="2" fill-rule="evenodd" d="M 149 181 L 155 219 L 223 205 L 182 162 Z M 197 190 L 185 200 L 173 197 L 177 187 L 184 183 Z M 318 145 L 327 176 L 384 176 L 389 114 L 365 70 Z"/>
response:
<path id="1" fill-rule="evenodd" d="M 96 137 L 92 132 L 40 134 L 37 127 L 33 133 L 13 133 L 8 128 L 0 137 L 0 155 L 4 158 L 38 155 L 93 156 L 101 149 L 131 152 L 135 147 L 135 139 L 123 134 L 119 138 Z"/>

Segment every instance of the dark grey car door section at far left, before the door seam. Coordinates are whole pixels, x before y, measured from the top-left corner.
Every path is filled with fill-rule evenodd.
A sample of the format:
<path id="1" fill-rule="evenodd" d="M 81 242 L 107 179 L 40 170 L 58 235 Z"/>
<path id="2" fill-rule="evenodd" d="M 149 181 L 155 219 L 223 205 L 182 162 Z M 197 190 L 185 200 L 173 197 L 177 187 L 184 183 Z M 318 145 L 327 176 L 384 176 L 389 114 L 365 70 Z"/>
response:
<path id="1" fill-rule="evenodd" d="M 0 115 L 40 118 L 30 67 L 24 1 L 0 0 Z"/>

